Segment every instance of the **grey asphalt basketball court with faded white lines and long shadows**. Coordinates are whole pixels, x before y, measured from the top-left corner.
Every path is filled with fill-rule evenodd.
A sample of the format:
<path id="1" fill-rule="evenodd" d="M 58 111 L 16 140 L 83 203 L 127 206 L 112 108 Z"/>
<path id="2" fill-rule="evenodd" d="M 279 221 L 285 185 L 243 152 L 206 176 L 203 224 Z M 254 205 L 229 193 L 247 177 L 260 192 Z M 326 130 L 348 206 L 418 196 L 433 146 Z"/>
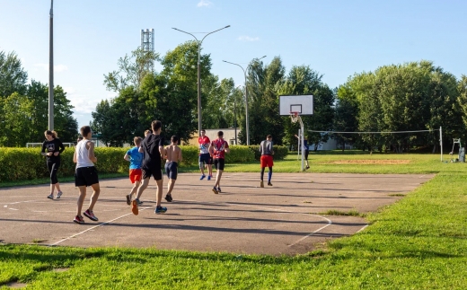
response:
<path id="1" fill-rule="evenodd" d="M 366 213 L 392 204 L 434 174 L 274 173 L 273 186 L 260 188 L 259 173 L 225 172 L 222 193 L 214 180 L 181 173 L 163 199 L 168 211 L 155 215 L 155 181 L 133 215 L 125 196 L 127 178 L 101 180 L 94 207 L 99 222 L 73 223 L 78 189 L 61 183 L 64 195 L 50 200 L 48 185 L 0 189 L 0 242 L 80 247 L 155 247 L 156 249 L 298 254 L 320 242 L 365 229 L 364 218 L 322 215 L 330 209 Z M 265 174 L 265 177 L 267 173 Z M 163 196 L 167 179 L 163 180 Z M 92 189 L 84 202 L 89 204 Z"/>

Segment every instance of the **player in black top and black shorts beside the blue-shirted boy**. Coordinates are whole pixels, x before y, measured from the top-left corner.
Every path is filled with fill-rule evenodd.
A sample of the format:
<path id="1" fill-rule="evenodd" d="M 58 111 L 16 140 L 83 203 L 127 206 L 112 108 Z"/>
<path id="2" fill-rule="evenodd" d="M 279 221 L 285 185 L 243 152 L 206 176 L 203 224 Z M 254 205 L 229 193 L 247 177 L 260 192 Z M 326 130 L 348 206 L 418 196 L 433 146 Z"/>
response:
<path id="1" fill-rule="evenodd" d="M 139 200 L 143 191 L 147 188 L 151 176 L 154 177 L 155 183 L 157 184 L 157 197 L 156 197 L 156 214 L 164 214 L 167 211 L 167 207 L 161 206 L 161 200 L 163 198 L 163 171 L 161 170 L 161 157 L 165 156 L 163 149 L 163 136 L 161 136 L 161 130 L 163 124 L 161 121 L 154 120 L 151 123 L 153 129 L 152 134 L 145 136 L 139 152 L 144 153 L 143 165 L 141 169 L 143 171 L 143 183 L 137 189 L 137 198 L 132 201 L 131 211 L 134 215 L 138 214 L 138 207 L 141 206 L 142 202 Z"/>

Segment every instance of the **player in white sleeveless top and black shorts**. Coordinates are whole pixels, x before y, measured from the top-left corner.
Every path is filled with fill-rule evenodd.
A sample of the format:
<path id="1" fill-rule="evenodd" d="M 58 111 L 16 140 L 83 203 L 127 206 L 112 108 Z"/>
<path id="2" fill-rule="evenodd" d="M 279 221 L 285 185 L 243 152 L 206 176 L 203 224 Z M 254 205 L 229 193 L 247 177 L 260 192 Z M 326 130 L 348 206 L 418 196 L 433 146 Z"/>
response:
<path id="1" fill-rule="evenodd" d="M 75 154 L 73 155 L 73 162 L 76 163 L 75 171 L 75 186 L 79 189 L 79 198 L 76 207 L 76 216 L 73 220 L 76 224 L 83 224 L 83 215 L 89 219 L 97 222 L 99 219 L 94 215 L 93 208 L 101 193 L 99 185 L 99 177 L 94 163 L 97 163 L 97 158 L 94 155 L 94 143 L 91 141 L 93 132 L 91 127 L 83 126 L 80 129 L 83 140 L 76 145 Z M 81 215 L 83 209 L 84 198 L 86 198 L 86 188 L 90 186 L 93 188 L 93 195 L 89 203 L 88 209 Z"/>

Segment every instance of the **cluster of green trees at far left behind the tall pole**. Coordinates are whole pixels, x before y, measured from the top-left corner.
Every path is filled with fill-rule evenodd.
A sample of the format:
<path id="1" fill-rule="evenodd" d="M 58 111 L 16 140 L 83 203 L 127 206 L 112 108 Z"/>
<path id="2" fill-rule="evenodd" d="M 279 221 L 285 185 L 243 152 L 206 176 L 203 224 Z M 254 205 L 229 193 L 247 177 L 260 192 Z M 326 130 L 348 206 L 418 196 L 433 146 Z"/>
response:
<path id="1" fill-rule="evenodd" d="M 78 124 L 66 92 L 54 88 L 54 124 L 63 142 L 74 142 Z M 31 80 L 14 53 L 0 51 L 0 146 L 42 142 L 48 129 L 48 85 Z"/>

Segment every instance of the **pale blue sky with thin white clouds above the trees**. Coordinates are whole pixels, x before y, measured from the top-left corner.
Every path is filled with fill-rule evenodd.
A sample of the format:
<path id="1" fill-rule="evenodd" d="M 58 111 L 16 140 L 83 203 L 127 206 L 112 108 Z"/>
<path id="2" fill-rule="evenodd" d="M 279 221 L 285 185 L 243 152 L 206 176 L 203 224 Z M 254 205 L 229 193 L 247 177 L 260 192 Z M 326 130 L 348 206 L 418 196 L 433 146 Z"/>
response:
<path id="1" fill-rule="evenodd" d="M 50 0 L 0 0 L 0 50 L 15 51 L 30 79 L 48 83 Z M 378 66 L 431 60 L 457 77 L 467 75 L 463 0 L 55 0 L 55 83 L 65 88 L 79 126 L 98 101 L 115 96 L 102 84 L 117 60 L 154 28 L 155 51 L 164 55 L 189 32 L 215 31 L 204 53 L 212 72 L 243 83 L 254 57 L 280 56 L 289 69 L 308 65 L 336 87 Z M 203 34 L 196 34 L 202 38 Z"/>

